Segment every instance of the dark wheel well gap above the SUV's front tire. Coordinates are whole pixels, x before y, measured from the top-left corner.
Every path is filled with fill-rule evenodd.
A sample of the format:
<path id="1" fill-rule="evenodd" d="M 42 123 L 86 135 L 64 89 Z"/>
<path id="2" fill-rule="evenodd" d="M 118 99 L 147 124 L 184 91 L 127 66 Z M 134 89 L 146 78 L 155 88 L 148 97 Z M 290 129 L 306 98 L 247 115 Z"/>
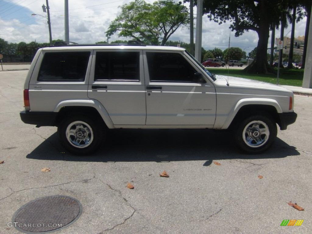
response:
<path id="1" fill-rule="evenodd" d="M 238 110 L 229 128 L 239 124 L 242 119 L 250 115 L 267 115 L 280 125 L 280 118 L 274 106 L 270 105 L 245 105 Z"/>

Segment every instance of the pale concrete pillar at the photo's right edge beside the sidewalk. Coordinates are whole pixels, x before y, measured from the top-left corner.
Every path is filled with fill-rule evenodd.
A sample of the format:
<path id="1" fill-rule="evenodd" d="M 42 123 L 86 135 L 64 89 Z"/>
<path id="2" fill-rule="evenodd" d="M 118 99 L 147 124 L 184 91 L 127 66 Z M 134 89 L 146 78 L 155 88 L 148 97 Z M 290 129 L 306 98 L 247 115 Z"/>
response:
<path id="1" fill-rule="evenodd" d="M 302 87 L 310 89 L 312 88 L 312 17 L 310 17 L 308 46 L 305 57 L 305 73 L 303 75 Z"/>

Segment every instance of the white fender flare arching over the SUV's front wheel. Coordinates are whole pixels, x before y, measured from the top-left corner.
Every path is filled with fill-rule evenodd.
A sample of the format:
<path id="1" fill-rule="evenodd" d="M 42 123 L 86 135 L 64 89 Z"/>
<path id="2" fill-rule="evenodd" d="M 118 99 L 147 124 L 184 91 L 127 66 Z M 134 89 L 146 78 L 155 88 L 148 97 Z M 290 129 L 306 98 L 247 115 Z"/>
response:
<path id="1" fill-rule="evenodd" d="M 227 129 L 230 124 L 232 123 L 233 119 L 235 118 L 238 111 L 246 105 L 269 105 L 273 106 L 277 113 L 282 113 L 282 109 L 278 102 L 274 99 L 270 98 L 244 98 L 239 100 L 236 105 L 230 111 L 226 121 L 224 122 L 222 129 Z"/>

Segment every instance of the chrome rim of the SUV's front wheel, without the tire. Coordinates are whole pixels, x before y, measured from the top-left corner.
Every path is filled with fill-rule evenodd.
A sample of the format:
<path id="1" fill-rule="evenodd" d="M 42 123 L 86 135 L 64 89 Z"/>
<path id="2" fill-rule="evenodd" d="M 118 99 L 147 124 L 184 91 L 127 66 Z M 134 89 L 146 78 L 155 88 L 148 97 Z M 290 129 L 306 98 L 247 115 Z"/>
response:
<path id="1" fill-rule="evenodd" d="M 249 122 L 243 130 L 243 140 L 246 145 L 252 148 L 257 148 L 266 144 L 269 136 L 269 127 L 261 120 Z"/>

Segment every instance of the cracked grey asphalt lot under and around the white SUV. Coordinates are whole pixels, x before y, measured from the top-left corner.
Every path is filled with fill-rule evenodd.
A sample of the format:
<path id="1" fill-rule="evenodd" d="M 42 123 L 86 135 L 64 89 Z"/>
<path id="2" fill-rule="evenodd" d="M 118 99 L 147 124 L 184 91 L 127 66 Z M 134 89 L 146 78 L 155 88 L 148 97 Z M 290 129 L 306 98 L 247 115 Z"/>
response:
<path id="1" fill-rule="evenodd" d="M 0 72 L 0 233 L 21 233 L 7 225 L 14 213 L 55 195 L 82 205 L 60 234 L 311 233 L 311 96 L 295 95 L 297 121 L 265 154 L 239 153 L 223 131 L 121 129 L 95 155 L 76 157 L 56 127 L 20 120 L 27 72 Z"/>

